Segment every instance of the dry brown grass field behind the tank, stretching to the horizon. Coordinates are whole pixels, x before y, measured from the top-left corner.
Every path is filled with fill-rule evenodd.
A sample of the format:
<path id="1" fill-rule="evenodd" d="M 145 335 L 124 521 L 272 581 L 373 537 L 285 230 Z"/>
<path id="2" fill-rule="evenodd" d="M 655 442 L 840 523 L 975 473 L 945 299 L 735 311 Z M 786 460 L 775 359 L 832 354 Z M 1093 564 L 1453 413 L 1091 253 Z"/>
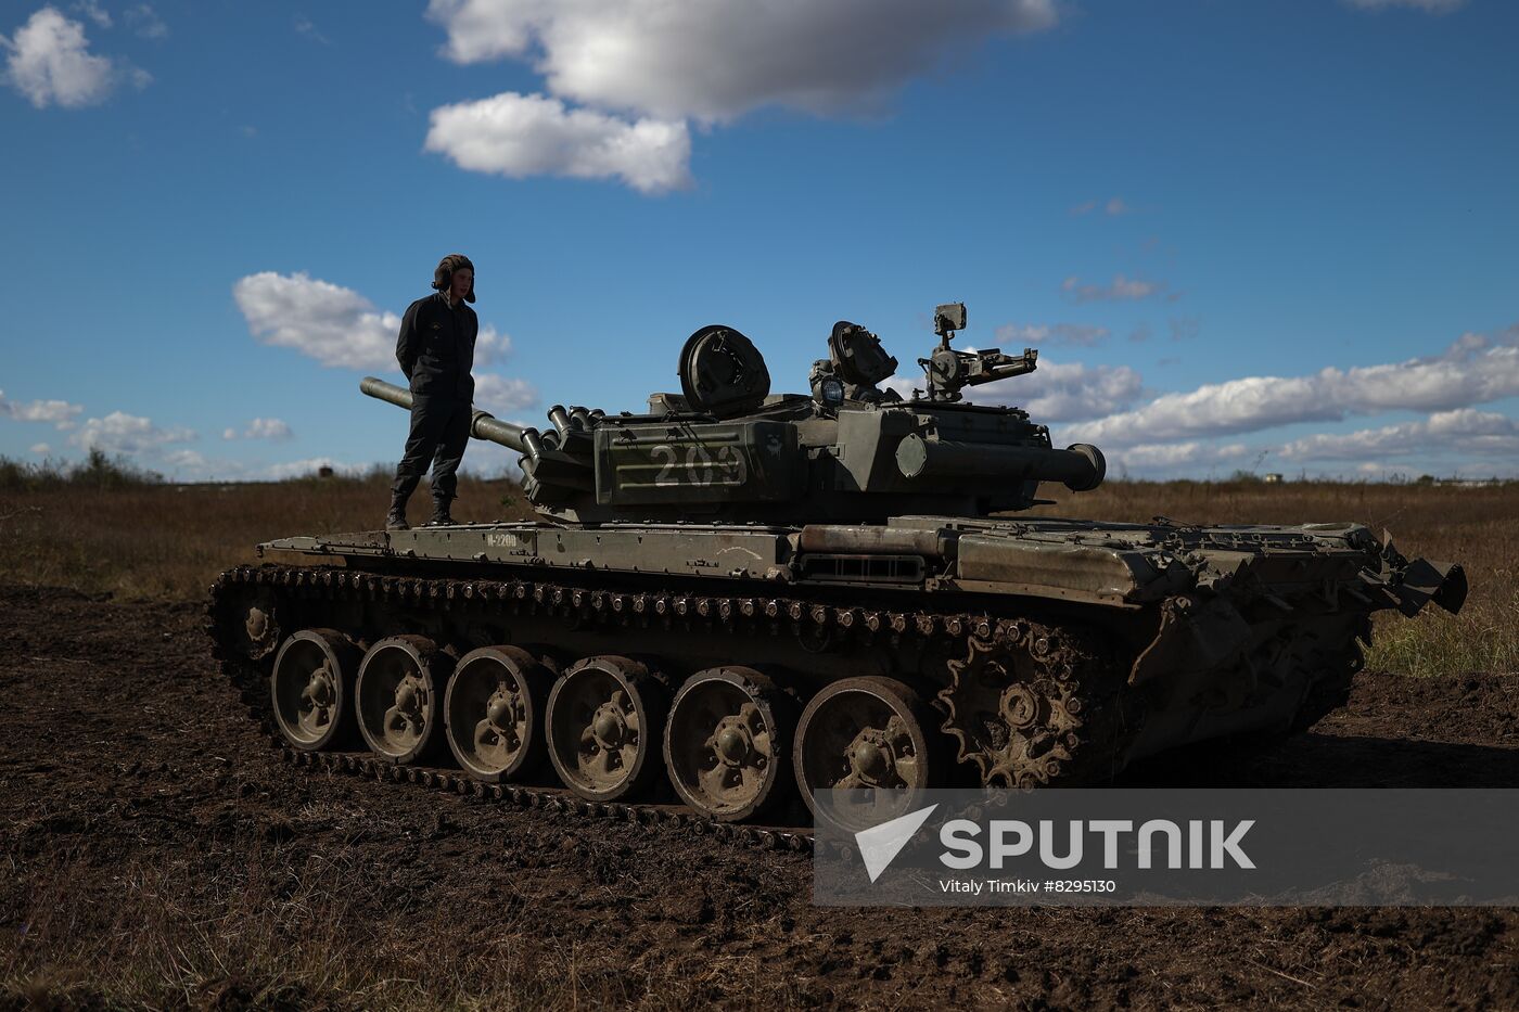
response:
<path id="1" fill-rule="evenodd" d="M 0 468 L 0 580 L 70 587 L 120 599 L 199 599 L 252 546 L 287 535 L 378 526 L 389 479 L 302 479 L 261 485 L 164 485 L 108 463 L 93 473 L 38 476 Z M 1472 594 L 1460 615 L 1435 608 L 1416 620 L 1382 612 L 1370 667 L 1404 675 L 1519 670 L 1519 482 L 1486 488 L 1331 482 L 1109 482 L 1072 495 L 1045 486 L 1054 506 L 1034 512 L 1180 523 L 1355 520 L 1391 530 L 1404 555 L 1457 561 Z M 425 486 L 412 500 L 425 517 Z M 532 512 L 512 482 L 465 479 L 463 521 Z"/>

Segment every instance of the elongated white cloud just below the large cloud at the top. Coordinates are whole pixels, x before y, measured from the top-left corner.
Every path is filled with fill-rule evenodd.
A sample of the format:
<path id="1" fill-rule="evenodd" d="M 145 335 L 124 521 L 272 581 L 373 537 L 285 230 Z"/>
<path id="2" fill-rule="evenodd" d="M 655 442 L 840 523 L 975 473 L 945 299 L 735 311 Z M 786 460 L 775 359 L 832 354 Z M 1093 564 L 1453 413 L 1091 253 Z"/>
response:
<path id="1" fill-rule="evenodd" d="M 691 181 L 687 170 L 691 137 L 685 123 L 630 122 L 515 91 L 433 109 L 425 146 L 460 169 L 515 179 L 620 178 L 643 193 L 677 190 Z"/>

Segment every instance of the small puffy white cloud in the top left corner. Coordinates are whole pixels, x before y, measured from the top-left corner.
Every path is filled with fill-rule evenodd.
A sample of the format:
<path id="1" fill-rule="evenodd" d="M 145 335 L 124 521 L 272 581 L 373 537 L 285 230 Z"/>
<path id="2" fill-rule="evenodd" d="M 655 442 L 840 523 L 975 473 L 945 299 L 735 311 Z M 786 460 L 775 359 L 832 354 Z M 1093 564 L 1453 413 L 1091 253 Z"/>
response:
<path id="1" fill-rule="evenodd" d="M 35 12 L 11 38 L 0 35 L 0 50 L 6 53 L 6 84 L 39 109 L 96 105 L 122 81 L 140 88 L 152 81 L 125 61 L 91 53 L 84 23 L 55 8 Z"/>

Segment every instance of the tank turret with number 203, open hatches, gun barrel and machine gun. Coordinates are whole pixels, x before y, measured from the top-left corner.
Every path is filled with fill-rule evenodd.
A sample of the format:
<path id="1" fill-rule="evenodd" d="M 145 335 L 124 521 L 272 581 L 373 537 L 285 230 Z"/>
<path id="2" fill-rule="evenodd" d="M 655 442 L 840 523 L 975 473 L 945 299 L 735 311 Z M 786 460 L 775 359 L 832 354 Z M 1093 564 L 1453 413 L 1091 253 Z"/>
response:
<path id="1" fill-rule="evenodd" d="M 881 383 L 896 359 L 858 324 L 840 321 L 811 394 L 770 394 L 764 357 L 744 334 L 702 327 L 681 351 L 681 394 L 653 394 L 646 413 L 553 406 L 544 432 L 474 412 L 471 433 L 523 454 L 523 486 L 547 517 L 577 523 L 817 520 L 875 523 L 902 514 L 981 517 L 1033 506 L 1039 482 L 1097 488 L 1097 447 L 1057 448 L 1018 407 L 963 400 L 968 386 L 1033 372 L 1037 353 L 957 351 L 965 305 L 940 305 L 940 337 L 919 359 L 925 391 Z M 410 407 L 368 377 L 360 389 Z"/>

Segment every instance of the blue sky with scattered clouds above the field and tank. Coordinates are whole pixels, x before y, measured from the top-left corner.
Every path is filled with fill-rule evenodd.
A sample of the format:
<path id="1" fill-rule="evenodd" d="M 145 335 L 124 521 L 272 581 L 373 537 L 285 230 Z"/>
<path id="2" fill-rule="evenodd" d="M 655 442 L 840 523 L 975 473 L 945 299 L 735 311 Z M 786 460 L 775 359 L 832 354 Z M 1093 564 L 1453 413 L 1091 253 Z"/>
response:
<path id="1" fill-rule="evenodd" d="M 638 409 L 708 322 L 1041 348 L 978 391 L 1133 476 L 1519 476 L 1519 6 L 0 6 L 0 454 L 393 462 L 398 315 L 478 403 Z M 466 466 L 500 471 L 474 444 Z"/>

